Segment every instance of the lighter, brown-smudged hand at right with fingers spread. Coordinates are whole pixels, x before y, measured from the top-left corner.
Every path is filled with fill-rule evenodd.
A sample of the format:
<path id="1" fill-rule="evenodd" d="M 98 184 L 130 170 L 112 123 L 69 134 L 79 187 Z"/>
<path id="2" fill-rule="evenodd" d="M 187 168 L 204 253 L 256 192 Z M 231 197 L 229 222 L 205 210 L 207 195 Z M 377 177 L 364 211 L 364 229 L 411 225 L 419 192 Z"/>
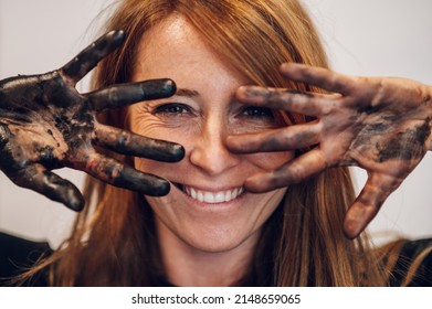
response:
<path id="1" fill-rule="evenodd" d="M 344 224 L 354 238 L 431 149 L 432 90 L 410 79 L 350 77 L 301 64 L 284 64 L 281 73 L 331 94 L 239 88 L 236 98 L 245 104 L 316 117 L 306 124 L 230 137 L 229 148 L 241 153 L 310 149 L 275 171 L 253 175 L 245 188 L 264 192 L 302 182 L 327 168 L 360 167 L 368 180 Z"/>

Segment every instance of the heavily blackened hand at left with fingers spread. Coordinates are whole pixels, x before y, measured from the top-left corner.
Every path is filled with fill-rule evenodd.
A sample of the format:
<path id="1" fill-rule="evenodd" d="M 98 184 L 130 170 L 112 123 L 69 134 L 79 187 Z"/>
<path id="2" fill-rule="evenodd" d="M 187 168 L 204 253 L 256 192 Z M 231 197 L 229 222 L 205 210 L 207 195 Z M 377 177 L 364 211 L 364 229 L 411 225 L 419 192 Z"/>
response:
<path id="1" fill-rule="evenodd" d="M 176 92 L 173 82 L 129 83 L 88 94 L 75 89 L 76 83 L 118 47 L 124 38 L 123 31 L 109 32 L 60 70 L 0 81 L 0 169 L 15 184 L 75 211 L 84 205 L 82 194 L 52 169 L 83 170 L 148 195 L 169 192 L 168 181 L 106 158 L 94 146 L 160 161 L 181 160 L 183 148 L 104 126 L 95 115 L 107 108 L 169 97 Z"/>

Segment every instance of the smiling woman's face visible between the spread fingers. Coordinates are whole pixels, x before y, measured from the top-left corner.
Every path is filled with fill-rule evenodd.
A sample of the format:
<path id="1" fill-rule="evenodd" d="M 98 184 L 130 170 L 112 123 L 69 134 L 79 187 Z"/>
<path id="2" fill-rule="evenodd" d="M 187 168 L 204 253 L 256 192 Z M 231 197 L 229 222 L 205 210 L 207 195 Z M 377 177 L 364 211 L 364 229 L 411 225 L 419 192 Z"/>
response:
<path id="1" fill-rule="evenodd" d="M 135 159 L 137 169 L 172 184 L 167 196 L 146 198 L 155 212 L 160 241 L 213 253 L 254 244 L 285 189 L 252 194 L 243 190 L 243 183 L 293 154 L 235 154 L 224 140 L 229 135 L 283 126 L 282 120 L 272 110 L 235 102 L 235 89 L 250 81 L 222 62 L 181 17 L 154 28 L 139 45 L 133 79 L 161 77 L 176 82 L 177 94 L 129 109 L 133 131 L 186 149 L 178 163 Z"/>

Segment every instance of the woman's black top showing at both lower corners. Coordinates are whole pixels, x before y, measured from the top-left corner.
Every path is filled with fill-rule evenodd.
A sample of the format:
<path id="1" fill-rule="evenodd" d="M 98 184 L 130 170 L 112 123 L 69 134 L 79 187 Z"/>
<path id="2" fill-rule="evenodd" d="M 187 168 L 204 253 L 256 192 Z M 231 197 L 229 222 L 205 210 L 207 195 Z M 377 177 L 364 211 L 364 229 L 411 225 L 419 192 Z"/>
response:
<path id="1" fill-rule="evenodd" d="M 430 246 L 432 246 L 432 238 L 407 242 L 390 277 L 389 286 L 400 286 L 412 259 Z M 34 243 L 0 233 L 0 286 L 9 286 L 9 278 L 31 267 L 41 255 L 46 256 L 51 253 L 48 243 Z M 167 281 L 160 284 L 170 286 Z M 24 285 L 48 286 L 46 276 L 39 275 Z M 423 259 L 409 286 L 432 287 L 432 252 Z"/>

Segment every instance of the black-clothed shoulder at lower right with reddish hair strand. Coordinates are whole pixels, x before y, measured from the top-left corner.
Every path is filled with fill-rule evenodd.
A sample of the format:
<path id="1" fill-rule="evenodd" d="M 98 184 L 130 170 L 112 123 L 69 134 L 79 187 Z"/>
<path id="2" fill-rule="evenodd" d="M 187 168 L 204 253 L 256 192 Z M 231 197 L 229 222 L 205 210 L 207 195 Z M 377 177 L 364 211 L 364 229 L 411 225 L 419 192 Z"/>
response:
<path id="1" fill-rule="evenodd" d="M 390 277 L 390 286 L 432 286 L 432 238 L 404 242 Z"/>

